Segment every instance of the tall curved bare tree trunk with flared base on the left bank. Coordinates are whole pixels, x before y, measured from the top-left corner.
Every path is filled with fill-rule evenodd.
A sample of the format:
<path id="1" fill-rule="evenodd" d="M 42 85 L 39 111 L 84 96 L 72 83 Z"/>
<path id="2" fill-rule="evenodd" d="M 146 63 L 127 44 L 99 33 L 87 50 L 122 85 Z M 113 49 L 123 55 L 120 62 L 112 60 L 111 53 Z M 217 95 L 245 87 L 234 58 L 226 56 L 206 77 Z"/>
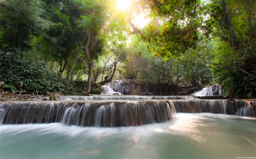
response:
<path id="1" fill-rule="evenodd" d="M 87 62 L 88 62 L 88 80 L 87 80 L 87 87 L 83 92 L 77 93 L 76 95 L 81 95 L 81 96 L 89 96 L 90 95 L 90 91 L 91 91 L 91 78 L 93 75 L 93 65 L 91 62 L 91 57 L 90 57 L 90 53 L 89 53 L 89 44 L 91 41 L 91 32 L 89 32 L 88 34 L 88 38 L 87 38 L 87 43 L 85 46 L 85 53 L 86 53 L 86 57 L 87 57 Z"/>

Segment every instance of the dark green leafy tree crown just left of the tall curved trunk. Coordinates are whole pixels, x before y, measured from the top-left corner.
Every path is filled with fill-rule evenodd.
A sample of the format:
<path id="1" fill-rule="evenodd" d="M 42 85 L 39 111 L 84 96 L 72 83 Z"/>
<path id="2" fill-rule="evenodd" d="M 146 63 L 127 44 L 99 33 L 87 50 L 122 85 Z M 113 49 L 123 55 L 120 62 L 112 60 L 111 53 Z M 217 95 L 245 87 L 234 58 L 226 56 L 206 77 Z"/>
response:
<path id="1" fill-rule="evenodd" d="M 35 37 L 35 51 L 39 52 L 50 65 L 57 63 L 59 72 L 67 72 L 67 78 L 71 77 L 71 62 L 74 68 L 78 57 L 81 56 L 80 43 L 82 43 L 85 32 L 83 28 L 78 28 L 80 20 L 79 7 L 82 5 L 79 1 L 73 0 L 45 0 L 45 17 L 54 22 L 44 37 Z"/>

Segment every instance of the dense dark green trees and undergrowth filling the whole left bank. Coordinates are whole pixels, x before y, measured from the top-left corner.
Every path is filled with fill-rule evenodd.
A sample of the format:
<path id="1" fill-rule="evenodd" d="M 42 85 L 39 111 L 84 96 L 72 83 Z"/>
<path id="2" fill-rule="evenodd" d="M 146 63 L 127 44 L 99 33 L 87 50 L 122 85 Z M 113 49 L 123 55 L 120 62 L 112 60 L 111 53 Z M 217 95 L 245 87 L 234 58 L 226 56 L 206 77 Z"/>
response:
<path id="1" fill-rule="evenodd" d="M 76 92 L 72 81 L 86 72 L 87 63 L 82 48 L 87 33 L 77 21 L 90 8 L 81 8 L 86 4 L 79 1 L 62 0 L 0 4 L 0 80 L 5 82 L 4 88 L 37 94 Z M 102 40 L 91 43 L 95 47 L 90 48 L 90 56 L 97 59 Z M 99 94 L 100 87 L 92 87 L 92 92 Z"/>

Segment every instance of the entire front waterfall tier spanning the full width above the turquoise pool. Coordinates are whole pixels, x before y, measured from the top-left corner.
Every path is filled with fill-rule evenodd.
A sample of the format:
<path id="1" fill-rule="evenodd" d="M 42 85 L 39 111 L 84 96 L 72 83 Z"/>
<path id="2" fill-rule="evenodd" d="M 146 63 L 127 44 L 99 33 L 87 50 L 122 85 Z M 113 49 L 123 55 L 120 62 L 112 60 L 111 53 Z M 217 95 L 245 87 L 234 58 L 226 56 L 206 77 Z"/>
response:
<path id="1" fill-rule="evenodd" d="M 255 110 L 254 100 L 150 99 L 5 102 L 0 104 L 0 124 L 63 123 L 95 127 L 140 126 L 166 122 L 175 118 L 177 112 L 255 116 Z"/>

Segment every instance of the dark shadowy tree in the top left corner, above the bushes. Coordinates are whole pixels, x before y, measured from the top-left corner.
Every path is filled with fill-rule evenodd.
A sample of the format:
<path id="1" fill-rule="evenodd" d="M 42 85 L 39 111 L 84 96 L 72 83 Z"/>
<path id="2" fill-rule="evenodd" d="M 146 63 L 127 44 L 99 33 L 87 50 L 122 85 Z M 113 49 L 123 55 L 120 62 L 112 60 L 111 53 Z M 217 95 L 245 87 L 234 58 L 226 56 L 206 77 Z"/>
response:
<path id="1" fill-rule="evenodd" d="M 0 49 L 28 51 L 33 36 L 42 35 L 53 23 L 44 18 L 41 0 L 0 1 Z"/>

